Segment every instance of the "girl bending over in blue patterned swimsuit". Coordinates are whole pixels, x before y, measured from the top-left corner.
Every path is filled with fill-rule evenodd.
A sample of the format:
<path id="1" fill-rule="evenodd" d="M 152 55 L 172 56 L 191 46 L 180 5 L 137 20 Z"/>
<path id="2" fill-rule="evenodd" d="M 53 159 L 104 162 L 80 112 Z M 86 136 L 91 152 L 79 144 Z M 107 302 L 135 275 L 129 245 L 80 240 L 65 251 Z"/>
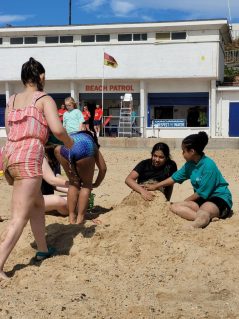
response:
<path id="1" fill-rule="evenodd" d="M 98 187 L 105 177 L 106 164 L 98 149 L 99 145 L 90 131 L 81 131 L 70 136 L 74 140 L 72 149 L 57 146 L 55 154 L 69 179 L 67 194 L 69 221 L 71 224 L 81 224 L 88 208 L 92 188 Z M 99 172 L 95 183 L 92 183 L 95 164 Z"/>

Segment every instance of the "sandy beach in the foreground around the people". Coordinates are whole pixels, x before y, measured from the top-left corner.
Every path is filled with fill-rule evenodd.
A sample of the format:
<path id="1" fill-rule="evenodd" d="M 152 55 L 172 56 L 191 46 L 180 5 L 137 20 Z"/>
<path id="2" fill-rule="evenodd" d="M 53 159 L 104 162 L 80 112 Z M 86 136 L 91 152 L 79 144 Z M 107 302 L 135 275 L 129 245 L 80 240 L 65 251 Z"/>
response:
<path id="1" fill-rule="evenodd" d="M 27 225 L 5 265 L 11 279 L 0 282 L 0 318 L 239 318 L 239 151 L 207 152 L 230 183 L 234 215 L 196 231 L 184 230 L 188 222 L 161 193 L 145 202 L 124 184 L 149 149 L 102 152 L 107 176 L 94 190 L 102 224 L 47 215 L 47 241 L 58 254 L 38 264 Z M 181 151 L 172 156 L 183 164 Z M 0 189 L 8 218 L 11 187 L 2 178 Z M 176 185 L 172 200 L 191 192 L 188 182 Z"/>

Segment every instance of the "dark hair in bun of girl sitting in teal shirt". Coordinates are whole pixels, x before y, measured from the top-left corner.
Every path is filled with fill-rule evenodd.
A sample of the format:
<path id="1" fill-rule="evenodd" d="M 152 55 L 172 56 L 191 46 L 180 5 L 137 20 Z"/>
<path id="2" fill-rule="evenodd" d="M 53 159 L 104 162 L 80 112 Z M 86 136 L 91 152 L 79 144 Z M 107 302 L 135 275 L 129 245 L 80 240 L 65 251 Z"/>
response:
<path id="1" fill-rule="evenodd" d="M 203 150 L 208 143 L 208 135 L 205 132 L 192 134 L 182 141 L 182 146 L 187 150 L 194 149 L 199 155 L 203 154 Z"/>

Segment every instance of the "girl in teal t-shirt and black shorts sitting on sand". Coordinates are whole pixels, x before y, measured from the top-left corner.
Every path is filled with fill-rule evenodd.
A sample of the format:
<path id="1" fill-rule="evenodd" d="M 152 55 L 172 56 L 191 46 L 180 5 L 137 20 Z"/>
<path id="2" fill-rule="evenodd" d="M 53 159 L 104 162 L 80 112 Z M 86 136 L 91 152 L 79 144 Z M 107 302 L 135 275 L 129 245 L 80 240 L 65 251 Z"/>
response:
<path id="1" fill-rule="evenodd" d="M 203 228 L 214 217 L 226 218 L 232 208 L 227 181 L 214 161 L 203 153 L 207 143 L 205 132 L 187 136 L 182 142 L 186 160 L 183 167 L 166 180 L 146 186 L 148 190 L 156 190 L 190 179 L 194 193 L 183 202 L 171 204 L 170 208 L 175 214 L 192 221 L 191 228 Z"/>

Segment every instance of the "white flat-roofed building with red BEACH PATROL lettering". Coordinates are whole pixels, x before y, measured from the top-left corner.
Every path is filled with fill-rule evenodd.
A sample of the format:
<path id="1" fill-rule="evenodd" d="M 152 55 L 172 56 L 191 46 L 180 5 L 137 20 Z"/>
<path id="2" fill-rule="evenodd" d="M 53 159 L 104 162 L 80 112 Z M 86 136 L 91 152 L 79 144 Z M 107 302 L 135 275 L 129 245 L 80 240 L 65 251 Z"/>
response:
<path id="1" fill-rule="evenodd" d="M 59 106 L 71 95 L 93 113 L 104 78 L 104 115 L 118 115 L 122 95 L 132 93 L 143 136 L 205 130 L 227 137 L 230 103 L 222 102 L 222 91 L 218 96 L 217 83 L 230 41 L 225 19 L 0 28 L 0 126 L 6 100 L 21 90 L 21 66 L 32 56 L 44 65 L 46 91 Z M 117 68 L 103 67 L 103 52 Z"/>

